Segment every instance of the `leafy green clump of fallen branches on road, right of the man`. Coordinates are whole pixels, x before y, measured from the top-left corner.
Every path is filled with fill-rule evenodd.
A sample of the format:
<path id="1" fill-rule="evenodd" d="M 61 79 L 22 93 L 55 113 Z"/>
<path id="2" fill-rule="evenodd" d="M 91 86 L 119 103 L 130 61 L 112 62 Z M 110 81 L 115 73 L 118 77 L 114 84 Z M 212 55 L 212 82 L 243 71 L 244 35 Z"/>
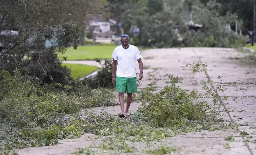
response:
<path id="1" fill-rule="evenodd" d="M 139 112 L 142 112 L 146 119 L 157 127 L 182 126 L 186 121 L 208 119 L 206 110 L 209 106 L 204 102 L 195 102 L 198 99 L 196 92 L 187 94 L 175 84 L 166 86 L 156 94 L 148 92 L 143 99 L 143 107 Z"/>

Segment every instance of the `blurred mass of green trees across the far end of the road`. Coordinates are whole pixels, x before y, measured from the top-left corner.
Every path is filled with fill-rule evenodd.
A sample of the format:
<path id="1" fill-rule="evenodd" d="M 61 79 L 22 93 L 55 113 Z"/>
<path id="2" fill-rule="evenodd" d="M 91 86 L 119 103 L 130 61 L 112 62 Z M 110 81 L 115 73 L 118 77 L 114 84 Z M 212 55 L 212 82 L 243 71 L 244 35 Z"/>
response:
<path id="1" fill-rule="evenodd" d="M 235 22 L 239 21 L 243 34 L 253 28 L 250 19 L 253 6 L 252 0 L 249 1 L 133 0 L 132 3 L 117 3 L 115 8 L 122 11 L 112 13 L 120 19 L 126 33 L 132 33 L 132 25 L 140 28 L 140 34 L 130 34 L 134 36 L 133 43 L 136 45 L 231 47 L 238 42 L 243 43 L 245 39 L 230 31 L 230 25 L 233 28 Z M 242 4 L 244 6 L 239 7 Z M 188 30 L 190 13 L 194 24 L 203 25 L 196 33 Z M 178 38 L 182 38 L 182 41 Z"/>

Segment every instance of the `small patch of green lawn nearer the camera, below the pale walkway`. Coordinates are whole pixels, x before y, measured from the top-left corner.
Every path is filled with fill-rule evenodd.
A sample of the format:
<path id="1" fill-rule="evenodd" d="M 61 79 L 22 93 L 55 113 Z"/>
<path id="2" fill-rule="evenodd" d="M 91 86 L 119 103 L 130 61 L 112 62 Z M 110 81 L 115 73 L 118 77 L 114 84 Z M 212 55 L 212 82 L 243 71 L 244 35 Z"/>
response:
<path id="1" fill-rule="evenodd" d="M 78 79 L 81 78 L 83 76 L 86 76 L 92 72 L 94 72 L 95 70 L 98 69 L 97 66 L 89 66 L 89 65 L 85 65 L 85 64 L 66 64 L 66 63 L 62 63 L 62 66 L 67 66 L 68 68 L 71 69 L 71 76 L 74 79 Z"/>

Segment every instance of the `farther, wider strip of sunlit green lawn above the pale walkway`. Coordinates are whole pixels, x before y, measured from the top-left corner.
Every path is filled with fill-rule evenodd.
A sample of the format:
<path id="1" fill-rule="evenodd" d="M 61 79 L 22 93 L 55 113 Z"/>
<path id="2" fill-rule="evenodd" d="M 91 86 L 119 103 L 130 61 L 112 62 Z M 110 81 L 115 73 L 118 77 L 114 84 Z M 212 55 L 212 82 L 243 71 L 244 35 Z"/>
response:
<path id="1" fill-rule="evenodd" d="M 67 49 L 64 55 L 58 55 L 61 57 L 67 57 L 67 60 L 95 60 L 98 59 L 112 59 L 112 53 L 116 45 L 84 45 L 78 46 L 76 50 L 73 47 Z"/>

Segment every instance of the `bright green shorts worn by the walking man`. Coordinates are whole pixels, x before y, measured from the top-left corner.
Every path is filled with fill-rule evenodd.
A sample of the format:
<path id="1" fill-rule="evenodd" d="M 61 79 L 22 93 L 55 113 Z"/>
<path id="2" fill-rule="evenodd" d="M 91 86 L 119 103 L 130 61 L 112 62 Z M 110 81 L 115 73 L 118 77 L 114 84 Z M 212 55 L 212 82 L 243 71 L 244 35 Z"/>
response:
<path id="1" fill-rule="evenodd" d="M 116 77 L 116 89 L 118 92 L 137 93 L 137 77 Z"/>

